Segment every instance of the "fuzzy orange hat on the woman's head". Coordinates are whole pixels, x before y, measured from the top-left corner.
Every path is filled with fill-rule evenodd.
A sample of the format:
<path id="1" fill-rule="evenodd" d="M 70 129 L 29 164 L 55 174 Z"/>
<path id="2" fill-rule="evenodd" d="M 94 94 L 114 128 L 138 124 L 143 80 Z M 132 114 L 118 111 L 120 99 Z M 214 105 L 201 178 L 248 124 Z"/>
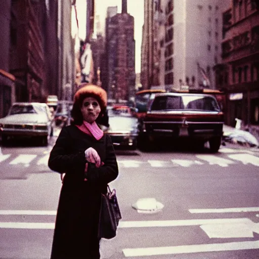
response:
<path id="1" fill-rule="evenodd" d="M 88 96 L 95 97 L 100 103 L 101 110 L 104 110 L 107 106 L 107 93 L 106 91 L 94 84 L 82 83 L 80 89 L 74 95 L 74 103 L 80 102 L 81 97 L 85 98 Z"/>

